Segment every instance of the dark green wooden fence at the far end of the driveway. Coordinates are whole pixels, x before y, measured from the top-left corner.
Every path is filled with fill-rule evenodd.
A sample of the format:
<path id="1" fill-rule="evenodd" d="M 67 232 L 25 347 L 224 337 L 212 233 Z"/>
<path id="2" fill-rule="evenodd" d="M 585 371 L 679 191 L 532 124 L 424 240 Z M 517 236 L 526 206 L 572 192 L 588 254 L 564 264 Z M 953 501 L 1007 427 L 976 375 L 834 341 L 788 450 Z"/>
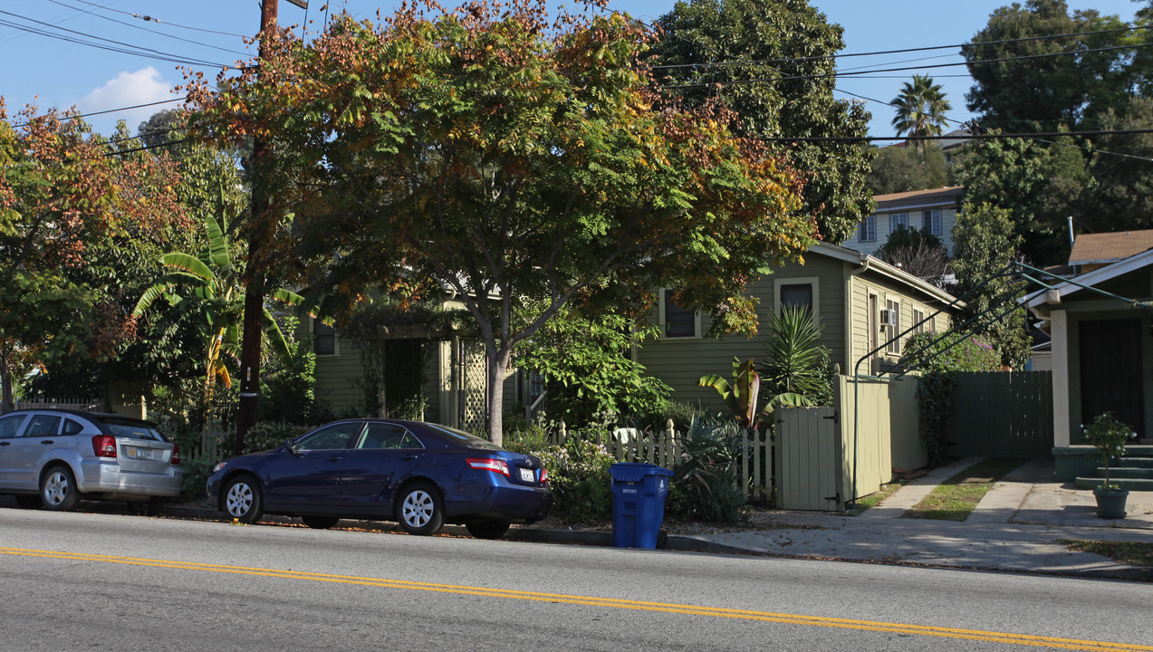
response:
<path id="1" fill-rule="evenodd" d="M 956 374 L 950 455 L 1037 457 L 1053 449 L 1053 372 Z"/>

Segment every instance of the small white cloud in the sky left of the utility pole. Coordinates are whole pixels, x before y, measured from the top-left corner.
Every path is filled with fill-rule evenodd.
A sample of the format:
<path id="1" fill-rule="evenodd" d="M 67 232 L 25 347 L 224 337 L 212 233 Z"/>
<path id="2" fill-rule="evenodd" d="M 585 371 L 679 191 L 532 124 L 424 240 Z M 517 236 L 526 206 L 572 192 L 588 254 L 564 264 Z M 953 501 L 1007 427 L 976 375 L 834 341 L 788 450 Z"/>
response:
<path id="1" fill-rule="evenodd" d="M 98 111 L 110 111 L 126 106 L 137 106 L 174 99 L 171 84 L 164 81 L 160 73 L 149 66 L 135 73 L 120 73 L 103 86 L 84 96 L 84 99 L 76 103 L 81 113 L 93 113 Z M 105 135 L 111 135 L 115 129 L 116 121 L 123 120 L 128 124 L 128 130 L 136 134 L 136 127 L 144 122 L 158 111 L 176 108 L 180 103 L 161 104 L 157 106 L 145 106 L 129 111 L 116 111 L 104 115 L 88 117 L 92 128 Z"/>

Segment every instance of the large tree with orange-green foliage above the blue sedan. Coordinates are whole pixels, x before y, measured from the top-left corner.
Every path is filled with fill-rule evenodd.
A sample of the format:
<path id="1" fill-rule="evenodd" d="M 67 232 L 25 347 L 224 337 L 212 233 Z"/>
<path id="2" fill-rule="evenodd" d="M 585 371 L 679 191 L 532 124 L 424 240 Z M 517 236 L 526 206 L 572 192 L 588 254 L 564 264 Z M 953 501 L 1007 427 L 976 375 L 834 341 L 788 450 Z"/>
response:
<path id="1" fill-rule="evenodd" d="M 736 137 L 731 112 L 655 93 L 638 65 L 651 35 L 626 16 L 430 12 L 342 16 L 307 44 L 284 32 L 259 79 L 189 89 L 212 137 L 276 138 L 272 196 L 300 209 L 319 287 L 452 288 L 484 343 L 490 405 L 515 344 L 570 301 L 639 313 L 680 287 L 717 331 L 753 327 L 745 283 L 813 242 L 783 161 Z M 526 297 L 543 308 L 519 326 Z M 499 410 L 489 434 L 500 441 Z"/>

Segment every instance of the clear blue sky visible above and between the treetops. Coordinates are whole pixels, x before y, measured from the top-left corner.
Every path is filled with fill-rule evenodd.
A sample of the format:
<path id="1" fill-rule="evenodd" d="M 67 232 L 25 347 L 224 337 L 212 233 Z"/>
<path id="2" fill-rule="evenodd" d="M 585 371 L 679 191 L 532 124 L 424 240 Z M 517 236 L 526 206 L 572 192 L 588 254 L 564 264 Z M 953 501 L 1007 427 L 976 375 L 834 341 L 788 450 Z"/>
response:
<path id="1" fill-rule="evenodd" d="M 611 7 L 628 12 L 633 16 L 654 20 L 672 9 L 672 0 L 610 0 Z M 445 1 L 445 5 L 452 5 Z M 830 22 L 845 29 L 844 53 L 876 52 L 906 47 L 956 45 L 967 41 L 988 21 L 988 15 L 997 7 L 1008 5 L 1003 0 L 963 0 L 941 2 L 939 0 L 812 0 Z M 308 18 L 318 25 L 323 21 L 319 12 L 322 2 L 311 0 Z M 332 10 L 345 6 L 339 0 Z M 348 0 L 349 12 L 359 17 L 372 18 L 379 7 L 384 14 L 391 13 L 395 2 L 380 3 L 379 0 Z M 1070 8 L 1094 8 L 1102 14 L 1117 14 L 1131 20 L 1140 7 L 1130 0 L 1070 0 Z M 157 21 L 144 21 L 138 16 L 150 16 Z M 216 65 L 231 63 L 246 58 L 246 46 L 241 35 L 249 35 L 259 28 L 259 2 L 257 0 L 25 0 L 0 3 L 0 60 L 6 62 L 0 78 L 0 96 L 8 106 L 9 120 L 25 104 L 39 107 L 67 108 L 76 105 L 83 113 L 107 111 L 126 106 L 163 101 L 176 97 L 172 88 L 181 83 L 182 76 L 176 63 L 163 60 L 161 55 L 175 55 L 183 60 L 198 60 L 203 65 L 196 69 L 214 75 Z M 299 24 L 304 21 L 304 10 L 281 0 L 280 23 Z M 38 21 L 35 22 L 35 21 Z M 157 51 L 152 56 L 126 54 L 98 50 L 88 45 L 69 43 L 58 38 L 28 33 L 12 26 L 17 24 L 50 31 L 68 38 L 95 40 L 107 47 L 130 44 Z M 71 31 L 61 31 L 71 30 Z M 152 31 L 149 31 L 152 30 Z M 160 33 L 157 33 L 160 32 Z M 225 33 L 216 33 L 225 32 Z M 895 63 L 907 59 L 935 59 L 918 62 Z M 842 69 L 858 66 L 898 67 L 913 65 L 950 63 L 960 61 L 956 50 L 890 54 L 882 56 L 852 58 L 842 62 Z M 965 91 L 972 84 L 964 67 L 927 69 L 952 103 L 949 117 L 964 121 L 971 117 L 965 109 Z M 891 100 L 900 91 L 913 71 L 886 74 L 887 77 L 842 78 L 837 88 L 876 100 Z M 847 98 L 846 94 L 838 97 Z M 111 132 L 115 121 L 123 119 L 135 132 L 136 126 L 158 109 L 178 106 L 167 104 L 156 107 L 116 112 L 92 116 L 89 121 L 96 130 Z M 869 132 L 873 136 L 890 136 L 889 126 L 892 108 L 883 104 L 868 104 L 873 112 Z"/>

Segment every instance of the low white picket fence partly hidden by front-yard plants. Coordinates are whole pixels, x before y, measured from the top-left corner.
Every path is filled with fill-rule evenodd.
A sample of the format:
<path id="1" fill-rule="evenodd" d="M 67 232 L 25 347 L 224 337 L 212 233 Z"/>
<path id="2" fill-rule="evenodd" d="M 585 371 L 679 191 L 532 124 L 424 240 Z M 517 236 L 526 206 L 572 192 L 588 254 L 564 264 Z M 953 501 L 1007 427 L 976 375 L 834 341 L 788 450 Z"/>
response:
<path id="1" fill-rule="evenodd" d="M 684 452 L 684 433 L 670 419 L 664 430 L 649 432 L 631 427 L 612 429 L 606 437 L 587 432 L 568 432 L 564 422 L 548 435 L 549 443 L 560 446 L 570 438 L 598 441 L 609 455 L 620 462 L 647 462 L 672 469 Z M 738 473 L 743 493 L 753 502 L 773 496 L 774 449 L 768 432 L 745 432 L 739 446 Z"/>

